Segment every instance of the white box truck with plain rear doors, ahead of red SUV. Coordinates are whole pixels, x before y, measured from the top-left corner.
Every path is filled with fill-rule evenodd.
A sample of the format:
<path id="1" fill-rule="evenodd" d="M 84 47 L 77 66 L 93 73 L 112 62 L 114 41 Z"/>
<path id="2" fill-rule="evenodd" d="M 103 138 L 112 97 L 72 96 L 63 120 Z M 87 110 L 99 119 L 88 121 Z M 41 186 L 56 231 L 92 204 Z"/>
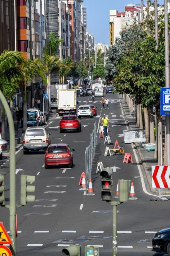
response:
<path id="1" fill-rule="evenodd" d="M 76 90 L 58 90 L 57 98 L 59 116 L 63 116 L 64 114 L 76 114 Z"/>

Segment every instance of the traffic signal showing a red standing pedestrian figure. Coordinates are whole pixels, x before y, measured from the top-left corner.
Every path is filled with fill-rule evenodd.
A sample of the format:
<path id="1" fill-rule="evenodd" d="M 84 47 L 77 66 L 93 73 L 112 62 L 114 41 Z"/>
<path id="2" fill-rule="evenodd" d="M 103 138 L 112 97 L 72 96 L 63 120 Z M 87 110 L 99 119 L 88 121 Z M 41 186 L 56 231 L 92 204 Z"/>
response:
<path id="1" fill-rule="evenodd" d="M 102 168 L 102 200 L 112 201 L 112 169 Z"/>

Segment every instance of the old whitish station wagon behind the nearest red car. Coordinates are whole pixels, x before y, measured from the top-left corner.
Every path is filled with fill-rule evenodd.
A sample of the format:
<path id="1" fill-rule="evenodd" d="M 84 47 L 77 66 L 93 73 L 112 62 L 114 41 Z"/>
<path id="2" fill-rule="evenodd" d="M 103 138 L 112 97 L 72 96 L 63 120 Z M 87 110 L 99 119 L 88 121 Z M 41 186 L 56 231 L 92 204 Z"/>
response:
<path id="1" fill-rule="evenodd" d="M 23 137 L 23 153 L 29 151 L 44 150 L 51 144 L 51 133 L 44 127 L 28 127 Z"/>

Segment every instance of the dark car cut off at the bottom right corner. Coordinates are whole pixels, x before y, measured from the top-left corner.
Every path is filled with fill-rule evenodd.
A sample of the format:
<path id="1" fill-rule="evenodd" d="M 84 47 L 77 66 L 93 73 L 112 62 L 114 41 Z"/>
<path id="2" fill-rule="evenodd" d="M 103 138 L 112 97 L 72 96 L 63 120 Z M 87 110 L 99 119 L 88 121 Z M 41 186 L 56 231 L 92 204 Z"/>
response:
<path id="1" fill-rule="evenodd" d="M 170 256 L 170 227 L 158 231 L 152 240 L 152 251 L 166 252 Z"/>

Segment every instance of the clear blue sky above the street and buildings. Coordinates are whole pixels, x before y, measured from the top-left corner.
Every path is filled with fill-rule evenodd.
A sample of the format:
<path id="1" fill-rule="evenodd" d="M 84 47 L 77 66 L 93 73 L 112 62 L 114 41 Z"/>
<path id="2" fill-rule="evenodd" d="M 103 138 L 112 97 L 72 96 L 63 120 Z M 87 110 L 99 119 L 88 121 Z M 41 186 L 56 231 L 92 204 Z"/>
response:
<path id="1" fill-rule="evenodd" d="M 123 12 L 127 4 L 140 4 L 141 0 L 84 0 L 87 6 L 87 30 L 94 35 L 94 43 L 109 45 L 109 10 Z M 146 0 L 143 1 L 146 5 Z M 158 0 L 162 5 L 164 0 Z"/>

